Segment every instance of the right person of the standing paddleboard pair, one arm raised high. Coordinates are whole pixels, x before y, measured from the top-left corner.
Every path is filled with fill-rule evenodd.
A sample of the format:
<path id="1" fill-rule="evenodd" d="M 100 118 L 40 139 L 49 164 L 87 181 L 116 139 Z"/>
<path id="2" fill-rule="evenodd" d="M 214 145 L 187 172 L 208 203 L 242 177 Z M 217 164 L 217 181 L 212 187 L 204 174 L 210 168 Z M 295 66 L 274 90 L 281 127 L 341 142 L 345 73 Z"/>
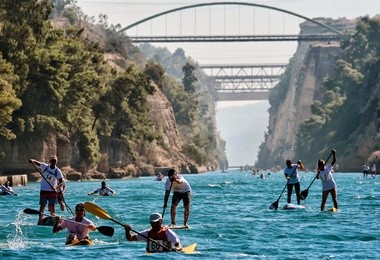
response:
<path id="1" fill-rule="evenodd" d="M 325 210 L 325 204 L 329 193 L 331 194 L 331 199 L 333 200 L 334 208 L 338 209 L 337 186 L 332 175 L 333 166 L 336 163 L 336 151 L 331 150 L 331 153 L 333 155 L 333 160 L 329 165 L 325 166 L 325 161 L 322 159 L 319 159 L 318 161 L 317 179 L 321 179 L 322 181 L 321 211 Z"/>

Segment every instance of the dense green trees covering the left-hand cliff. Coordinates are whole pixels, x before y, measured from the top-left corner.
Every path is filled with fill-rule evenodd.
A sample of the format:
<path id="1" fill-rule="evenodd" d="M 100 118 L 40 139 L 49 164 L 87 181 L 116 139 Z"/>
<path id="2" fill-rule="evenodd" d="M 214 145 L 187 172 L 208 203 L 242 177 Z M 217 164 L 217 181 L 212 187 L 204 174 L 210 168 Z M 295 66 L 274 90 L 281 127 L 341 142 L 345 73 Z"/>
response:
<path id="1" fill-rule="evenodd" d="M 100 138 L 114 138 L 124 141 L 133 162 L 142 146 L 162 144 L 162 133 L 154 131 L 148 116 L 153 80 L 173 102 L 178 122 L 192 127 L 181 133 L 191 133 L 183 150 L 199 164 L 218 165 L 215 127 L 198 123 L 198 86 L 192 65 L 173 63 L 178 69 L 186 68 L 185 87 L 165 75 L 160 64 L 149 62 L 141 69 L 142 54 L 128 37 L 117 33 L 118 26 L 108 25 L 107 17 L 100 17 L 97 25 L 89 23 L 91 18 L 74 2 L 0 2 L 0 138 L 44 139 L 62 134 L 78 149 L 77 161 L 72 163 L 87 168 L 100 160 Z M 52 11 L 55 17 L 63 15 L 68 24 L 53 27 Z M 83 24 L 106 37 L 89 37 Z M 117 64 L 121 69 L 105 61 L 105 52 L 124 58 L 123 64 Z"/>

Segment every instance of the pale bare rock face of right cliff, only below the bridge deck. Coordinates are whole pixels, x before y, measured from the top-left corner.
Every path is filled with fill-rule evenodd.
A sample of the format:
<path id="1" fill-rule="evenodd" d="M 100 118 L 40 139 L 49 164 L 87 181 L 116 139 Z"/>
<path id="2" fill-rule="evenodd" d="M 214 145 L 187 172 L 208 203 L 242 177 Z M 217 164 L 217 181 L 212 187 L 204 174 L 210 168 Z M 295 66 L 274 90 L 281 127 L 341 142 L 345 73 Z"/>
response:
<path id="1" fill-rule="evenodd" d="M 279 110 L 269 116 L 266 147 L 272 158 L 293 158 L 299 125 L 311 115 L 311 104 L 320 99 L 323 78 L 331 71 L 340 48 L 318 43 L 298 46 L 288 92 Z M 277 162 L 283 164 L 284 162 Z"/>

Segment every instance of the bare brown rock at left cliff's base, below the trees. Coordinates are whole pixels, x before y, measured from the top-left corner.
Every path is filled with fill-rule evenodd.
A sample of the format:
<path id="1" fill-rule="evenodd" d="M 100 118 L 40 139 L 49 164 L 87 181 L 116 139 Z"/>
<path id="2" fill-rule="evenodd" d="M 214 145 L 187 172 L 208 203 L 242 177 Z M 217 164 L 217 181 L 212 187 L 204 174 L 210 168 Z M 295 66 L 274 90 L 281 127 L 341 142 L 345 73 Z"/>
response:
<path id="1" fill-rule="evenodd" d="M 29 164 L 30 158 L 47 162 L 50 155 L 58 156 L 58 166 L 69 180 L 125 178 L 155 175 L 167 168 L 176 168 L 183 173 L 206 172 L 181 153 L 181 141 L 175 122 L 173 108 L 165 95 L 156 87 L 148 98 L 149 116 L 156 131 L 162 133 L 163 145 L 152 143 L 141 146 L 138 160 L 134 163 L 128 145 L 122 140 L 100 137 L 101 159 L 95 168 L 82 165 L 75 142 L 64 135 L 30 136 L 13 141 L 0 139 L 5 157 L 0 159 L 0 173 L 27 174 L 31 181 L 39 178 L 36 169 Z"/>

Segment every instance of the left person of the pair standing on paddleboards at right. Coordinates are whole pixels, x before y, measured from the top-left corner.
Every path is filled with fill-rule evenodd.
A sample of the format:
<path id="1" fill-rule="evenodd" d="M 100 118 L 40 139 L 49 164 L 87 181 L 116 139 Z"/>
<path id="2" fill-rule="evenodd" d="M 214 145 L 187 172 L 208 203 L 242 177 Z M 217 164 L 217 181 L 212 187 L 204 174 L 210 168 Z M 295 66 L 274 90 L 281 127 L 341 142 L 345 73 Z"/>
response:
<path id="1" fill-rule="evenodd" d="M 297 205 L 300 205 L 301 199 L 300 199 L 300 190 L 301 190 L 301 185 L 300 185 L 300 176 L 298 174 L 299 170 L 303 170 L 304 166 L 301 162 L 301 160 L 298 160 L 297 164 L 293 164 L 292 160 L 287 159 L 286 160 L 286 168 L 284 169 L 284 175 L 285 178 L 288 180 L 287 187 L 288 187 L 288 197 L 287 197 L 287 202 L 290 204 L 292 200 L 292 192 L 293 192 L 293 187 L 296 191 L 296 196 L 297 196 Z"/>

